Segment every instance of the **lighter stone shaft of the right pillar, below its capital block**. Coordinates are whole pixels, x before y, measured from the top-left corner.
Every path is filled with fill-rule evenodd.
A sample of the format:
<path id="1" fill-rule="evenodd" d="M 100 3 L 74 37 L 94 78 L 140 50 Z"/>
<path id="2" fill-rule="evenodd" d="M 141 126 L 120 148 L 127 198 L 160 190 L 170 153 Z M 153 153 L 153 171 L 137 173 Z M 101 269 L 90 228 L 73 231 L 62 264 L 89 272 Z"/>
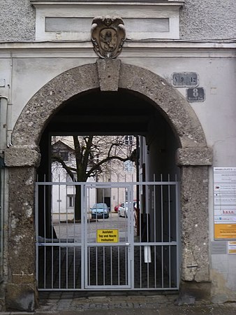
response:
<path id="1" fill-rule="evenodd" d="M 209 281 L 208 167 L 182 167 L 181 190 L 182 280 Z"/>

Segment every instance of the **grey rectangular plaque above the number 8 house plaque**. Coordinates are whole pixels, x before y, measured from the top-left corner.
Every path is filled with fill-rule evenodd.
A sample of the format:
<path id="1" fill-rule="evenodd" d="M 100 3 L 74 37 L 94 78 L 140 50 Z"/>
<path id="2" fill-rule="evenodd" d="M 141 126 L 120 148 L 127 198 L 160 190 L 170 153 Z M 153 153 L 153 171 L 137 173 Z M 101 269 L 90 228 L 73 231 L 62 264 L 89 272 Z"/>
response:
<path id="1" fill-rule="evenodd" d="M 175 72 L 172 74 L 172 85 L 176 87 L 198 86 L 199 79 L 196 72 Z"/>

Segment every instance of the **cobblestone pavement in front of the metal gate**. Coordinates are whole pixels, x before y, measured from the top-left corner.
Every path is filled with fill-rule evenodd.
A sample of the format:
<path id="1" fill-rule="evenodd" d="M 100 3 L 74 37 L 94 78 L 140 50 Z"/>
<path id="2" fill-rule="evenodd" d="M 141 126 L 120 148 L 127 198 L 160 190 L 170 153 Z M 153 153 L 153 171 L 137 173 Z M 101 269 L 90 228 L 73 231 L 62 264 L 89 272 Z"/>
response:
<path id="1" fill-rule="evenodd" d="M 236 315 L 236 303 L 175 305 L 177 295 L 109 295 L 87 297 L 75 293 L 40 293 L 34 312 L 1 312 L 0 315 Z"/>

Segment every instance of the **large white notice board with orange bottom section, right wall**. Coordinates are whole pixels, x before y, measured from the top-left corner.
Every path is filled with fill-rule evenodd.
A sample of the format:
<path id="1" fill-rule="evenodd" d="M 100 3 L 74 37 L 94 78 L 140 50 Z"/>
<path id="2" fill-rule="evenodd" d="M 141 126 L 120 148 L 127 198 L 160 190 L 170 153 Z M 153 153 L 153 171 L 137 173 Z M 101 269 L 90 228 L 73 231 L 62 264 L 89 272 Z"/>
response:
<path id="1" fill-rule="evenodd" d="M 236 167 L 214 167 L 214 239 L 236 239 Z"/>

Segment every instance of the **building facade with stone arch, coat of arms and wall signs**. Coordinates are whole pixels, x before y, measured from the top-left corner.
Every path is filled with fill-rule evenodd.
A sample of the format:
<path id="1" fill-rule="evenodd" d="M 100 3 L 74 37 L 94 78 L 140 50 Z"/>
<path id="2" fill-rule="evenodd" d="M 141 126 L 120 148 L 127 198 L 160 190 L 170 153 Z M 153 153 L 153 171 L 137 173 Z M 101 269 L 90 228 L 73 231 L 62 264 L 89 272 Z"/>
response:
<path id="1" fill-rule="evenodd" d="M 180 299 L 235 301 L 235 1 L 2 2 L 1 309 L 37 305 L 36 182 L 75 132 L 140 136 L 139 180 L 179 183 Z"/>

